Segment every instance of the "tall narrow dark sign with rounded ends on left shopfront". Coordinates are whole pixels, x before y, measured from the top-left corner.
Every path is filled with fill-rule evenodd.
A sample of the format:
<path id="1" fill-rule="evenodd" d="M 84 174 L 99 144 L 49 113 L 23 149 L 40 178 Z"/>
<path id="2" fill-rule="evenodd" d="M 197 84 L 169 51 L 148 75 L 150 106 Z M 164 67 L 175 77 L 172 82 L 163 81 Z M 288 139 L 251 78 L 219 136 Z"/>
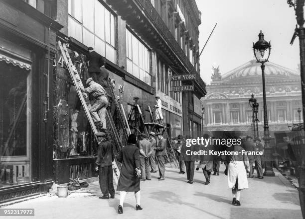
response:
<path id="1" fill-rule="evenodd" d="M 62 152 L 69 148 L 69 108 L 66 100 L 60 100 L 57 105 L 57 136 L 58 146 Z"/>

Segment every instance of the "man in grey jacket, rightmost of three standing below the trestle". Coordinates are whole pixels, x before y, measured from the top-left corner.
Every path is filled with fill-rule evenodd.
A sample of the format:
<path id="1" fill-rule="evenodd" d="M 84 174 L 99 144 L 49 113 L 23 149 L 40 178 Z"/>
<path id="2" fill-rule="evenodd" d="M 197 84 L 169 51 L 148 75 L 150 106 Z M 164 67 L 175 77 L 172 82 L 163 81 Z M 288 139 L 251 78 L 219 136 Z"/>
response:
<path id="1" fill-rule="evenodd" d="M 166 139 L 163 138 L 162 133 L 157 133 L 158 137 L 158 146 L 154 148 L 155 157 L 158 163 L 159 168 L 159 175 L 158 180 L 164 180 L 164 173 L 165 173 L 165 155 L 166 155 Z"/>

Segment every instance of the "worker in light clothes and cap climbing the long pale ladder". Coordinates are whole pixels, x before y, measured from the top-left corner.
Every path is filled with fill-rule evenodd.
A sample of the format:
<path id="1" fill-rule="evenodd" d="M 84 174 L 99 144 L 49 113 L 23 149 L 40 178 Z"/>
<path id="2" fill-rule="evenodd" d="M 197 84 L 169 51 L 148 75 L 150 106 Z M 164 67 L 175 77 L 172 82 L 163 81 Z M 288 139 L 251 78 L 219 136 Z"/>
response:
<path id="1" fill-rule="evenodd" d="M 89 77 L 86 81 L 87 88 L 80 87 L 82 92 L 91 93 L 94 98 L 94 103 L 89 110 L 95 126 L 98 130 L 107 132 L 106 130 L 106 107 L 108 106 L 108 99 L 106 97 L 106 91 L 101 84 L 96 83 L 92 77 Z M 101 118 L 99 117 L 99 114 Z"/>

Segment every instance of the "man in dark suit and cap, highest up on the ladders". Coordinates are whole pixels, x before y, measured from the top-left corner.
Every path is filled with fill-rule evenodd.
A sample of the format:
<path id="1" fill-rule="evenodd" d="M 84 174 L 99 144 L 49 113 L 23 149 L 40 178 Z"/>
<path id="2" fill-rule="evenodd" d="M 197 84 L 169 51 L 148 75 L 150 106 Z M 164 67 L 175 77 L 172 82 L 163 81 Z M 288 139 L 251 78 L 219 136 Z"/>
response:
<path id="1" fill-rule="evenodd" d="M 89 56 L 86 62 L 89 62 L 88 72 L 89 76 L 97 83 L 100 83 L 99 75 L 101 73 L 100 68 L 105 64 L 104 59 L 101 55 L 94 51 L 92 47 L 88 48 Z"/>

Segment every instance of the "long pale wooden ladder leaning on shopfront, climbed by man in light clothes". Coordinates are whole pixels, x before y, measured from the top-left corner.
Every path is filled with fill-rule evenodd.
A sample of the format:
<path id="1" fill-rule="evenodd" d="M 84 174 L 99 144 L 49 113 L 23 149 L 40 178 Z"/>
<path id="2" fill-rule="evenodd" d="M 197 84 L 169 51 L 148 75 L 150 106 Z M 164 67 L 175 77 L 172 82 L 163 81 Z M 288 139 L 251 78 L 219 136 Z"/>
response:
<path id="1" fill-rule="evenodd" d="M 84 85 L 83 85 L 83 83 L 81 81 L 81 78 L 80 78 L 80 76 L 79 76 L 79 74 L 78 74 L 78 72 L 76 70 L 76 67 L 74 66 L 74 64 L 71 61 L 71 58 L 70 58 L 70 55 L 69 55 L 68 50 L 66 48 L 66 45 L 65 44 L 61 44 L 61 42 L 58 41 L 58 46 L 60 48 L 60 51 L 61 51 L 62 57 L 64 59 L 64 62 L 66 64 L 66 66 L 68 67 L 68 71 L 70 73 L 70 76 L 72 78 L 74 86 L 75 86 L 75 88 L 77 90 L 77 94 L 78 94 L 79 99 L 80 99 L 80 101 L 82 103 L 82 106 L 84 108 L 86 116 L 87 116 L 87 118 L 89 120 L 89 124 L 90 124 L 90 126 L 92 128 L 92 131 L 94 133 L 95 139 L 98 142 L 98 138 L 96 136 L 98 131 L 97 131 L 95 125 L 94 125 L 93 119 L 92 119 L 91 114 L 89 112 L 89 110 L 92 107 L 91 104 L 90 104 L 90 100 L 89 100 L 87 94 L 86 93 L 83 94 L 82 91 L 80 90 L 80 87 L 84 87 Z M 84 67 L 86 68 L 86 66 L 84 66 Z M 109 119 L 112 120 L 111 117 Z M 114 179 L 115 179 L 115 182 L 118 184 L 118 177 L 120 175 L 120 171 L 119 171 L 119 168 L 118 168 L 118 165 L 117 165 L 116 161 L 114 161 L 112 164 L 113 164 Z"/>

